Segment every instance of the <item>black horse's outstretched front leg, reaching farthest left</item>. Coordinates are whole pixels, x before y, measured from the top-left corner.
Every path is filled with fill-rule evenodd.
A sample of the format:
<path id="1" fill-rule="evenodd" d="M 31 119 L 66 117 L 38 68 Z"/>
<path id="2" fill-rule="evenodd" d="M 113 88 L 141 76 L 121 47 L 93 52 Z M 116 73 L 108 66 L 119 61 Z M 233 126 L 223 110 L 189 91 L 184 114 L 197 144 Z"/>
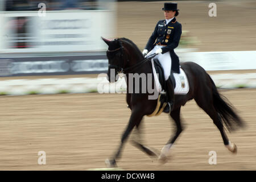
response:
<path id="1" fill-rule="evenodd" d="M 117 167 L 115 159 L 118 159 L 120 157 L 123 144 L 125 143 L 127 137 L 131 133 L 131 130 L 133 130 L 134 126 L 137 125 L 137 123 L 142 121 L 143 114 L 142 114 L 141 108 L 143 108 L 143 107 L 140 107 L 140 109 L 137 109 L 137 108 L 134 108 L 131 111 L 131 116 L 130 116 L 129 123 L 128 123 L 126 129 L 125 129 L 125 132 L 122 135 L 121 143 L 118 147 L 117 152 L 115 153 L 115 155 L 111 159 L 106 159 L 106 161 L 105 161 L 105 163 L 108 167 Z"/>

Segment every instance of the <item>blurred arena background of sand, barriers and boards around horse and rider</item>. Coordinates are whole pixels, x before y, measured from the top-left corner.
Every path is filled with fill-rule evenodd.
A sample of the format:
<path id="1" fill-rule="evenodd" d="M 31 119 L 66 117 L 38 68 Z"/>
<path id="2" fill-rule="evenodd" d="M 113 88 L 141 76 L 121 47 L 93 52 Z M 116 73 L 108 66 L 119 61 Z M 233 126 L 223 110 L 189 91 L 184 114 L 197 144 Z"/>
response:
<path id="1" fill-rule="evenodd" d="M 177 21 L 183 33 L 175 52 L 181 63 L 194 61 L 205 68 L 247 127 L 229 134 L 238 146 L 236 156 L 229 154 L 208 115 L 191 101 L 182 110 L 185 130 L 169 163 L 158 166 L 127 144 L 119 166 L 128 170 L 256 169 L 253 0 L 0 0 L 0 169 L 105 167 L 130 110 L 125 94 L 97 93 L 102 81 L 98 74 L 108 70 L 108 47 L 101 36 L 128 38 L 142 51 L 155 24 L 164 19 L 164 2 L 177 2 L 180 9 Z M 210 17 L 212 2 L 217 16 Z M 170 118 L 162 114 L 144 120 L 145 140 L 160 150 L 174 132 Z M 47 164 L 40 166 L 37 159 L 42 150 Z M 217 166 L 208 164 L 212 150 L 217 151 Z"/>

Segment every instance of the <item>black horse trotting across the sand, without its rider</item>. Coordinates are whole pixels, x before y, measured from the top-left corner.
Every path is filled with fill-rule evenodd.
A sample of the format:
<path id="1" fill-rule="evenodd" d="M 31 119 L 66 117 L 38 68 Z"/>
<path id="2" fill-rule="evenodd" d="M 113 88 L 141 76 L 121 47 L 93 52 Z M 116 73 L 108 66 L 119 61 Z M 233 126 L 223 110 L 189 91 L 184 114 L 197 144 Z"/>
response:
<path id="1" fill-rule="evenodd" d="M 153 72 L 151 61 L 148 61 L 143 57 L 139 48 L 131 42 L 131 40 L 126 38 L 114 40 L 102 39 L 109 46 L 106 54 L 109 60 L 108 79 L 110 82 L 117 81 L 117 75 L 121 72 L 125 75 L 128 75 L 128 73 L 147 74 Z M 111 75 L 110 69 L 113 68 L 115 69 L 114 75 Z M 224 125 L 229 131 L 236 129 L 237 127 L 242 127 L 243 122 L 241 118 L 234 112 L 232 106 L 222 99 L 212 78 L 210 78 L 208 73 L 205 72 L 200 65 L 193 62 L 186 62 L 181 63 L 181 68 L 187 75 L 189 92 L 185 95 L 175 95 L 174 109 L 171 111 L 170 115 L 175 121 L 176 133 L 162 148 L 160 155 L 144 146 L 141 142 L 134 140 L 133 144 L 146 152 L 146 154 L 158 157 L 160 162 L 166 162 L 167 152 L 183 130 L 180 122 L 180 107 L 184 106 L 187 101 L 194 99 L 197 105 L 212 118 L 213 123 L 217 126 L 218 130 L 220 130 L 221 137 L 228 150 L 236 153 L 237 147 L 234 143 L 231 143 L 226 136 Z M 127 76 L 126 79 L 127 90 L 129 90 L 129 77 Z M 154 78 L 151 78 L 151 81 L 154 82 Z M 142 90 L 142 88 L 139 88 L 139 90 Z M 136 126 L 139 131 L 139 126 L 144 115 L 150 115 L 155 111 L 158 100 L 149 100 L 148 96 L 150 94 L 152 93 L 127 92 L 126 101 L 131 109 L 131 116 L 126 130 L 122 135 L 121 144 L 118 147 L 118 150 L 112 158 L 106 160 L 106 164 L 109 167 L 117 166 L 115 159 L 119 158 L 123 144 L 134 127 Z"/>

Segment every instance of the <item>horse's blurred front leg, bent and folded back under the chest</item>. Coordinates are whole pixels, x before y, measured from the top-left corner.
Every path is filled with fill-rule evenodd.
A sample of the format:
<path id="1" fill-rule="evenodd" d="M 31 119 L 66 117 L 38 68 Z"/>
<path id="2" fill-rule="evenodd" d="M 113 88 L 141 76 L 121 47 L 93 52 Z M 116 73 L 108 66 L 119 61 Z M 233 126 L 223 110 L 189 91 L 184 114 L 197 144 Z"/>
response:
<path id="1" fill-rule="evenodd" d="M 139 150 L 145 152 L 149 156 L 158 157 L 158 154 L 156 154 L 156 152 L 152 151 L 151 148 L 143 144 L 143 141 L 141 138 L 142 125 L 143 125 L 143 122 L 139 122 L 136 124 L 136 130 L 133 133 L 133 139 L 131 140 L 131 144 L 133 144 L 133 146 L 139 148 Z"/>

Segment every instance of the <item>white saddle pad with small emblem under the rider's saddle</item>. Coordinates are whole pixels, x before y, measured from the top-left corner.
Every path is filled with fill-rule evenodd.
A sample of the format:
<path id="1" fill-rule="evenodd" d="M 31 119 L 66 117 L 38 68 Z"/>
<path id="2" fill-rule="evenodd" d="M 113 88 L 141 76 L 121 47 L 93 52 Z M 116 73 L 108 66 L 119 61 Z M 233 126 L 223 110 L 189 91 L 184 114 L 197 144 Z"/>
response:
<path id="1" fill-rule="evenodd" d="M 160 85 L 158 75 L 156 74 L 155 71 L 155 66 L 154 66 L 154 61 L 153 59 L 151 60 L 152 63 L 152 68 L 153 68 L 153 73 L 154 73 L 154 78 L 156 82 L 156 87 L 159 90 L 159 93 L 163 92 L 162 85 Z M 180 68 L 180 73 L 173 73 L 176 86 L 174 89 L 174 94 L 176 95 L 185 95 L 189 91 L 189 84 L 188 84 L 188 78 L 183 69 Z"/>

